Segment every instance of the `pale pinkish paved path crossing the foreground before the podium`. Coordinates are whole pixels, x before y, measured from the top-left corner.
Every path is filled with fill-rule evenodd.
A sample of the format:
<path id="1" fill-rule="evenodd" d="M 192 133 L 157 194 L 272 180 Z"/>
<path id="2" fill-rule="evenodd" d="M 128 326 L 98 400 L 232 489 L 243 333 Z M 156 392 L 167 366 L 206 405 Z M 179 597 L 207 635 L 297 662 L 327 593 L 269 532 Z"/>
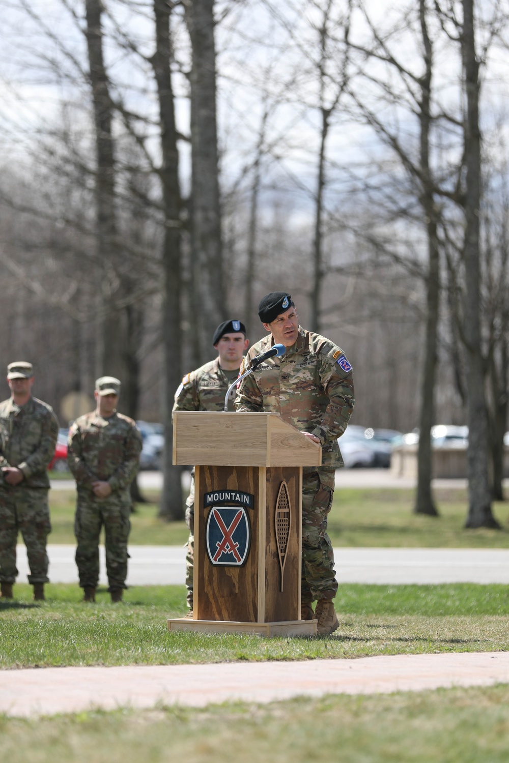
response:
<path id="1" fill-rule="evenodd" d="M 509 652 L 5 670 L 0 671 L 0 712 L 37 716 L 157 703 L 205 707 L 228 700 L 264 703 L 303 695 L 385 694 L 507 683 Z"/>

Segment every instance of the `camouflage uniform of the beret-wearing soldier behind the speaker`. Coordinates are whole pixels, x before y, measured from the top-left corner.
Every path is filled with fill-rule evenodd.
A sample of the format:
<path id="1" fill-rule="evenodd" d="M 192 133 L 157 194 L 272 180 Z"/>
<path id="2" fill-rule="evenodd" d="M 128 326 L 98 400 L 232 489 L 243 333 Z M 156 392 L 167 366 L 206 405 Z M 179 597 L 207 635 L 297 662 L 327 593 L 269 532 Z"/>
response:
<path id="1" fill-rule="evenodd" d="M 224 371 L 219 365 L 219 358 L 205 363 L 201 368 L 186 374 L 176 391 L 173 410 L 223 410 L 224 395 L 227 388 L 237 378 L 239 372 Z M 234 409 L 235 388 L 228 398 L 228 410 Z M 191 473 L 191 490 L 185 501 L 185 523 L 190 532 L 188 552 L 185 557 L 185 585 L 188 590 L 188 606 L 192 609 L 192 586 L 195 555 L 195 469 Z"/>

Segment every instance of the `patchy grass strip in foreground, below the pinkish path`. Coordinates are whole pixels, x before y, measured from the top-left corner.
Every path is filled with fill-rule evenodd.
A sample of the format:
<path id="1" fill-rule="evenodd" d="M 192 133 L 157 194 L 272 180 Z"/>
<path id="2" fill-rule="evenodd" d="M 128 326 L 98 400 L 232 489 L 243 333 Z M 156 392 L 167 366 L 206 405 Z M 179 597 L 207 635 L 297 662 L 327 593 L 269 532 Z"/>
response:
<path id="1" fill-rule="evenodd" d="M 507 763 L 509 687 L 0 717 L 10 763 Z"/>

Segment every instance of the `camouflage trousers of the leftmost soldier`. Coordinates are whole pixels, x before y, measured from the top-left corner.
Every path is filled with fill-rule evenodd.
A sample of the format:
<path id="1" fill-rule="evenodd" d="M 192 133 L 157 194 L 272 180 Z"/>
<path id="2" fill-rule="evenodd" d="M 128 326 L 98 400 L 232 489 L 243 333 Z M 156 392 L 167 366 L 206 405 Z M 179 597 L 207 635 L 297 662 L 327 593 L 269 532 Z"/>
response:
<path id="1" fill-rule="evenodd" d="M 14 583 L 16 542 L 21 531 L 27 546 L 28 582 L 48 583 L 47 536 L 51 532 L 46 488 L 0 488 L 0 581 Z"/>

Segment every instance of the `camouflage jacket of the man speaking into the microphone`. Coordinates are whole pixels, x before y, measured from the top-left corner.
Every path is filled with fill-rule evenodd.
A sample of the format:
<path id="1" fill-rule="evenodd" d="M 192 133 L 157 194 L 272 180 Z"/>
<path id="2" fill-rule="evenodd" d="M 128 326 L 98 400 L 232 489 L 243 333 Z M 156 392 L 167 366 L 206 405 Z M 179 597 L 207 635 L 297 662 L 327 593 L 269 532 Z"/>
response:
<path id="1" fill-rule="evenodd" d="M 265 336 L 250 348 L 240 368 L 273 344 Z M 299 326 L 299 336 L 282 358 L 269 358 L 240 381 L 237 410 L 272 410 L 322 444 L 322 464 L 343 466 L 337 437 L 343 434 L 353 406 L 352 367 L 343 350 L 320 334 Z"/>

